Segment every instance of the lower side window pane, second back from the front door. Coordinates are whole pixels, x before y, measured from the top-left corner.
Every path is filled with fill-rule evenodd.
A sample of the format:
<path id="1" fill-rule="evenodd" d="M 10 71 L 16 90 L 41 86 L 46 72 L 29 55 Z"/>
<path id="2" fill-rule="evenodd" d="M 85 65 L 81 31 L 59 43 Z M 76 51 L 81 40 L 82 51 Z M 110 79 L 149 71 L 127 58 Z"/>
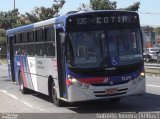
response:
<path id="1" fill-rule="evenodd" d="M 35 54 L 37 56 L 44 56 L 44 44 L 43 43 L 35 44 Z"/>

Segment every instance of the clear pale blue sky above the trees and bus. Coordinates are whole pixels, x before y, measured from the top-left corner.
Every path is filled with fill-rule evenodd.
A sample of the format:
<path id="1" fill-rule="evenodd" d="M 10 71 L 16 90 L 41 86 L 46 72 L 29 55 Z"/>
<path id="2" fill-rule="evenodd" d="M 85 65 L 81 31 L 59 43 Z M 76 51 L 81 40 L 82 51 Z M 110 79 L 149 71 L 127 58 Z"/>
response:
<path id="1" fill-rule="evenodd" d="M 16 8 L 19 12 L 31 12 L 34 7 L 51 7 L 54 0 L 15 0 Z M 60 14 L 67 13 L 68 11 L 77 10 L 82 3 L 89 4 L 90 0 L 66 0 L 65 5 L 60 11 Z M 110 0 L 113 1 L 113 0 Z M 141 25 L 160 26 L 160 0 L 114 0 L 117 1 L 117 8 L 125 8 L 135 2 L 140 1 L 140 15 Z M 0 11 L 8 11 L 14 8 L 14 0 L 1 0 Z M 152 14 L 146 14 L 152 13 Z"/>

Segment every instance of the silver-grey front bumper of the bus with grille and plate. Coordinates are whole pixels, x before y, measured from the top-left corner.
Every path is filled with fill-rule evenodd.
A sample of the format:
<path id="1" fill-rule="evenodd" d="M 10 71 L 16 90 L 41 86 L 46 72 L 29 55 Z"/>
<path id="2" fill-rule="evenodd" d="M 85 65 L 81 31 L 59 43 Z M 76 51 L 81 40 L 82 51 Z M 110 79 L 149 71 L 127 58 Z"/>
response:
<path id="1" fill-rule="evenodd" d="M 114 86 L 92 86 L 88 88 L 70 85 L 68 88 L 68 102 L 79 102 L 89 100 L 101 100 L 129 95 L 142 95 L 146 91 L 145 77 L 129 81 L 125 84 Z"/>

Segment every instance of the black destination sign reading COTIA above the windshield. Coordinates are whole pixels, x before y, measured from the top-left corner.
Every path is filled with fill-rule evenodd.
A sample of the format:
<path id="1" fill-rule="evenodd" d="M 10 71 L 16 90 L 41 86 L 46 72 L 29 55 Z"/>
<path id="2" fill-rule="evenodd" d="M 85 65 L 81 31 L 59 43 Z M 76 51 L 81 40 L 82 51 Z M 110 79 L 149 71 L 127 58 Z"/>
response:
<path id="1" fill-rule="evenodd" d="M 127 15 L 90 15 L 90 16 L 73 16 L 68 19 L 68 25 L 108 25 L 108 24 L 138 24 L 139 18 L 137 14 Z"/>

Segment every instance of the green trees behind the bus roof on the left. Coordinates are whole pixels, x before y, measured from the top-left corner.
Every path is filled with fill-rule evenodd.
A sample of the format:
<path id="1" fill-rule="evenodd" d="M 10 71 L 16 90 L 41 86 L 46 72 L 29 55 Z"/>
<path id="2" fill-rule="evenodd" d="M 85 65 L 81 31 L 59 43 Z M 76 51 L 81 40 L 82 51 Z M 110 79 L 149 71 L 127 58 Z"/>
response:
<path id="1" fill-rule="evenodd" d="M 20 14 L 18 9 L 0 12 L 0 28 L 5 30 L 30 23 L 53 18 L 65 4 L 65 0 L 57 0 L 50 8 L 36 7 L 31 13 Z"/>

